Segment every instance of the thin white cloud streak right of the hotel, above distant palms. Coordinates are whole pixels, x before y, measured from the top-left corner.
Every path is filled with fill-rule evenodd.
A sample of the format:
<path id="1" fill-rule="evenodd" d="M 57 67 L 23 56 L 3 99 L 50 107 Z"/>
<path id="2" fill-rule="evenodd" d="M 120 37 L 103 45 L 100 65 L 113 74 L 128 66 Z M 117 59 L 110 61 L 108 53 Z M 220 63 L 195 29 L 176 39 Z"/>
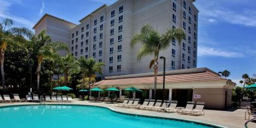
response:
<path id="1" fill-rule="evenodd" d="M 219 56 L 219 57 L 244 57 L 240 52 L 224 51 L 214 47 L 198 47 L 198 56 Z"/>

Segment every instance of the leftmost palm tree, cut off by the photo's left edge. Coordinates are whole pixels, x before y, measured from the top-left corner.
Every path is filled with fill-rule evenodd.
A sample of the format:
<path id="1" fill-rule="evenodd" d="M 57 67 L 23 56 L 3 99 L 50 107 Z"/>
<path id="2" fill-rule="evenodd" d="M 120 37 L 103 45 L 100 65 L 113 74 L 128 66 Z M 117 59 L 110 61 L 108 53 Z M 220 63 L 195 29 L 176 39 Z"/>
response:
<path id="1" fill-rule="evenodd" d="M 25 27 L 12 27 L 6 31 L 7 27 L 11 27 L 13 21 L 11 19 L 4 19 L 0 24 L 0 64 L 1 64 L 1 77 L 2 87 L 5 91 L 5 78 L 4 78 L 4 52 L 7 49 L 8 44 L 14 44 L 16 42 L 31 39 L 33 33 Z"/>

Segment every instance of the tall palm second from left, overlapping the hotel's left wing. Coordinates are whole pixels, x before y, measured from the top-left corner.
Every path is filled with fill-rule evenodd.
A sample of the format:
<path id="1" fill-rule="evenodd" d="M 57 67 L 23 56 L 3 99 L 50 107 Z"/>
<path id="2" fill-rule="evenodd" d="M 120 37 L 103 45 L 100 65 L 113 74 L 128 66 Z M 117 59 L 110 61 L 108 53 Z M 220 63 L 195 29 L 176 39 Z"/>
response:
<path id="1" fill-rule="evenodd" d="M 33 37 L 32 42 L 35 47 L 34 50 L 37 53 L 37 92 L 39 93 L 39 81 L 41 64 L 44 59 L 52 59 L 59 56 L 57 51 L 66 50 L 69 51 L 67 44 L 63 42 L 51 42 L 50 36 L 47 36 L 46 31 L 41 31 L 36 37 Z"/>

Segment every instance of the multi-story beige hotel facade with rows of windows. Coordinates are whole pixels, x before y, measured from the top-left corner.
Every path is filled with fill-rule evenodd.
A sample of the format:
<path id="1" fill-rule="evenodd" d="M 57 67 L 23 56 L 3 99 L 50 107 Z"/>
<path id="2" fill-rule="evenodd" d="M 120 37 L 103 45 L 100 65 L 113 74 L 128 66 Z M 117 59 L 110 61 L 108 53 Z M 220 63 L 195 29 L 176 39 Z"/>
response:
<path id="1" fill-rule="evenodd" d="M 64 41 L 76 57 L 94 57 L 104 62 L 104 76 L 152 72 L 152 56 L 137 61 L 140 45 L 132 49 L 130 38 L 150 24 L 160 34 L 169 28 L 182 28 L 186 37 L 172 39 L 168 49 L 161 51 L 167 70 L 197 67 L 197 14 L 194 0 L 119 0 L 103 5 L 83 17 L 76 25 L 45 14 L 33 27 L 36 34 L 46 29 L 52 41 Z M 163 69 L 159 60 L 159 69 Z"/>

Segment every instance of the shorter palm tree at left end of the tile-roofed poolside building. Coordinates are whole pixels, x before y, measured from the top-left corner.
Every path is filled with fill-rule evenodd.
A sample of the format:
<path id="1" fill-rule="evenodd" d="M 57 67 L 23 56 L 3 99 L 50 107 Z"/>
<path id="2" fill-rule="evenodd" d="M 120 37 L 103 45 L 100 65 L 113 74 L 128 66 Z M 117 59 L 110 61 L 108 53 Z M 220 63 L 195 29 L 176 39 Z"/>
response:
<path id="1" fill-rule="evenodd" d="M 86 59 L 85 57 L 81 57 L 79 59 L 80 62 L 80 70 L 82 73 L 82 81 L 88 82 L 88 88 L 91 89 L 91 81 L 97 77 L 96 74 L 102 75 L 101 67 L 105 64 L 103 62 L 96 62 L 93 58 Z M 83 87 L 84 89 L 84 84 Z M 89 96 L 88 96 L 89 100 Z"/>

